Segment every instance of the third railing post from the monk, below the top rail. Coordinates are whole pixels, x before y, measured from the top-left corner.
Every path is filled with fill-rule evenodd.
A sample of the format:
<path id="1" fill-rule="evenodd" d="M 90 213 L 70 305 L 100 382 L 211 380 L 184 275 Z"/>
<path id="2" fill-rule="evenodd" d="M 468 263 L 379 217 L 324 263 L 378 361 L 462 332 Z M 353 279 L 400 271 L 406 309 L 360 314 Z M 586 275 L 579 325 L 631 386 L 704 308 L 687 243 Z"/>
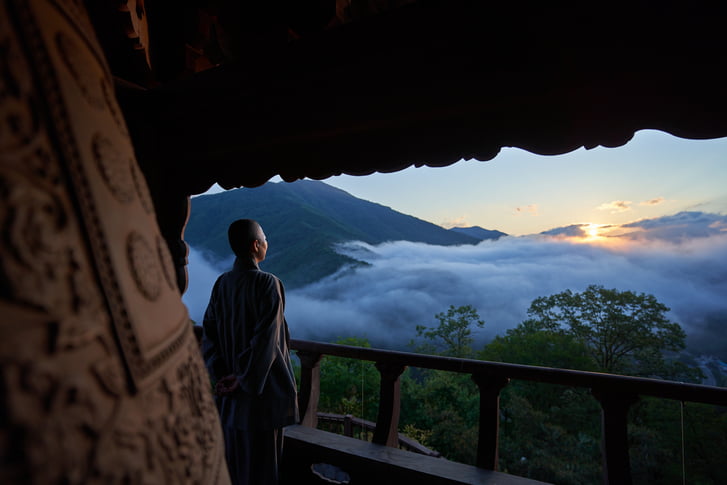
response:
<path id="1" fill-rule="evenodd" d="M 476 465 L 497 470 L 500 440 L 500 391 L 510 379 L 488 374 L 472 374 L 480 390 L 480 429 L 477 437 Z"/>

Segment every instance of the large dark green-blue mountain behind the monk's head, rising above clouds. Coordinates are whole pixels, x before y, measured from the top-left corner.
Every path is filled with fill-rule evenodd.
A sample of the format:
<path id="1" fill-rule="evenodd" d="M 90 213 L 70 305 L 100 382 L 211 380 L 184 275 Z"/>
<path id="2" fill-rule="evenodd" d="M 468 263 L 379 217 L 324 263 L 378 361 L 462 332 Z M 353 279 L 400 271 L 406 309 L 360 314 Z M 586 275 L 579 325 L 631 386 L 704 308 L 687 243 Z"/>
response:
<path id="1" fill-rule="evenodd" d="M 227 263 L 232 258 L 227 228 L 241 218 L 260 222 L 270 245 L 261 267 L 289 288 L 317 281 L 347 264 L 365 264 L 334 250 L 344 241 L 480 242 L 478 237 L 448 231 L 313 180 L 268 182 L 194 197 L 184 239 L 212 261 Z"/>

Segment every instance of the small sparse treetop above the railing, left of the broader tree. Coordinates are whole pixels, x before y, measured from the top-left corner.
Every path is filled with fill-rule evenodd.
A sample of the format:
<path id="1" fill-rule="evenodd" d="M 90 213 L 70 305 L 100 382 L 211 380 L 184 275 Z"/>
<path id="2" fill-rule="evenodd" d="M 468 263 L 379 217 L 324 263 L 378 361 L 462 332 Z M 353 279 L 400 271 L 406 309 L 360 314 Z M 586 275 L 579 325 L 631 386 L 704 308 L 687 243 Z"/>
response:
<path id="1" fill-rule="evenodd" d="M 447 313 L 437 313 L 436 327 L 417 325 L 417 337 L 424 337 L 432 343 L 416 346 L 416 350 L 427 354 L 448 357 L 472 357 L 472 325 L 482 328 L 485 322 L 471 305 L 455 307 L 450 305 Z"/>

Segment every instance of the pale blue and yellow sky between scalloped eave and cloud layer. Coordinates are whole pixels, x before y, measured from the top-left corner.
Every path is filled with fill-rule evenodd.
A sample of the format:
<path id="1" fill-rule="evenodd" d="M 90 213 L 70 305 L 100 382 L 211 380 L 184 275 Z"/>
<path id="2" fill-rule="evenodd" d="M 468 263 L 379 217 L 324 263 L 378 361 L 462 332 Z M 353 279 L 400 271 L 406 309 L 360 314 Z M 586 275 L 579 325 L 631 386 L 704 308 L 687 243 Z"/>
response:
<path id="1" fill-rule="evenodd" d="M 686 210 L 727 213 L 727 138 L 646 130 L 619 148 L 558 156 L 503 149 L 487 162 L 324 180 L 444 227 L 511 235 L 571 224 L 624 224 Z"/>

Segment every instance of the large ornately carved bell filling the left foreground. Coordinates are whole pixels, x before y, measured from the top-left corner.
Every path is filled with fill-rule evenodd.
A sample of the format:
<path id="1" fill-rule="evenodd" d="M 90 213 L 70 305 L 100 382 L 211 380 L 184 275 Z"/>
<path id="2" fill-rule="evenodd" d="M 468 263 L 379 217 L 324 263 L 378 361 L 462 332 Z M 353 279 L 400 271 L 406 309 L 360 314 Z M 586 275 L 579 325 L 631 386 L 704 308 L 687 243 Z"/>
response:
<path id="1" fill-rule="evenodd" d="M 229 483 L 83 2 L 0 1 L 0 228 L 0 483 Z"/>

